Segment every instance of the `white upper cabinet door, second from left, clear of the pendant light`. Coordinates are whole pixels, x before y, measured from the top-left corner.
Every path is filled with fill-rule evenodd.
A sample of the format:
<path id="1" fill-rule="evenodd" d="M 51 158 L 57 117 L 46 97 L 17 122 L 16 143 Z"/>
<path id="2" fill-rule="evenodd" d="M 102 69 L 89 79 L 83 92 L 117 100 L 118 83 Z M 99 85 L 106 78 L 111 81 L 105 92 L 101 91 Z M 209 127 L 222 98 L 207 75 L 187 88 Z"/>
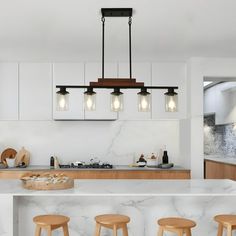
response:
<path id="1" fill-rule="evenodd" d="M 19 67 L 20 120 L 52 119 L 50 63 L 21 63 Z"/>

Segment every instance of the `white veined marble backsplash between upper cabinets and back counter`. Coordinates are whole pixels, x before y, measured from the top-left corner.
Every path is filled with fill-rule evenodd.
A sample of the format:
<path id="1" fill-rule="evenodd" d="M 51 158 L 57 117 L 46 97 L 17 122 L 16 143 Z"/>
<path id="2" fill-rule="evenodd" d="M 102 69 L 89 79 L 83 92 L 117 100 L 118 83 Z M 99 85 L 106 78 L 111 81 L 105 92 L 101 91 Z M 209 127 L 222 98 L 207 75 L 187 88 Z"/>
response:
<path id="1" fill-rule="evenodd" d="M 130 164 L 141 153 L 159 153 L 166 145 L 170 161 L 179 159 L 178 121 L 1 121 L 0 150 L 22 146 L 31 164 L 49 165 L 51 155 L 67 163 L 98 157 Z"/>

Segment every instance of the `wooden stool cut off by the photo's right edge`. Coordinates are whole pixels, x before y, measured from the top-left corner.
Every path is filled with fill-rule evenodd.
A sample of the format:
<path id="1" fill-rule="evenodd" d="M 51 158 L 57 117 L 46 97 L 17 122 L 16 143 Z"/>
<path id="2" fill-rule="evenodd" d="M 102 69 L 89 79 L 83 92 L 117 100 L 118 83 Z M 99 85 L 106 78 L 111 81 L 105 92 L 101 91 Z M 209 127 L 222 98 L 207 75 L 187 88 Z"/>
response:
<path id="1" fill-rule="evenodd" d="M 232 236 L 232 231 L 236 229 L 236 215 L 217 215 L 214 220 L 219 224 L 217 236 L 223 236 L 224 228 L 227 236 Z"/>

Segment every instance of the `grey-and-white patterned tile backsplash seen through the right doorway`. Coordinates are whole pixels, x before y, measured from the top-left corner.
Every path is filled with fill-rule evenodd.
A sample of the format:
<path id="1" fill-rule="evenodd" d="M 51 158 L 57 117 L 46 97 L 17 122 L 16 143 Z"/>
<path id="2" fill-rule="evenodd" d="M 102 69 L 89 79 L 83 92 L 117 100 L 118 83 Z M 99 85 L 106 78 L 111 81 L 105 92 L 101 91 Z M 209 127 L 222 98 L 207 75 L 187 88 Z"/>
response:
<path id="1" fill-rule="evenodd" d="M 236 158 L 236 124 L 215 125 L 215 115 L 204 117 L 204 154 Z"/>

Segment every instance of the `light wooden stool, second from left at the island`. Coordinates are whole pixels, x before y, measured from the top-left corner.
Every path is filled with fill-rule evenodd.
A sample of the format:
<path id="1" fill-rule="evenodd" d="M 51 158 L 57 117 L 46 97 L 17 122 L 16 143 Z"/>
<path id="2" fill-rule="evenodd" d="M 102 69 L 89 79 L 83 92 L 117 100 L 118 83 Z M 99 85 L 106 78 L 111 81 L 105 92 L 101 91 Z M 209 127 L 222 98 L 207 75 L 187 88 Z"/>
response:
<path id="1" fill-rule="evenodd" d="M 99 215 L 95 217 L 96 232 L 95 236 L 100 236 L 101 226 L 113 229 L 113 236 L 117 236 L 117 230 L 123 230 L 123 236 L 128 236 L 127 223 L 130 218 L 124 215 Z"/>

